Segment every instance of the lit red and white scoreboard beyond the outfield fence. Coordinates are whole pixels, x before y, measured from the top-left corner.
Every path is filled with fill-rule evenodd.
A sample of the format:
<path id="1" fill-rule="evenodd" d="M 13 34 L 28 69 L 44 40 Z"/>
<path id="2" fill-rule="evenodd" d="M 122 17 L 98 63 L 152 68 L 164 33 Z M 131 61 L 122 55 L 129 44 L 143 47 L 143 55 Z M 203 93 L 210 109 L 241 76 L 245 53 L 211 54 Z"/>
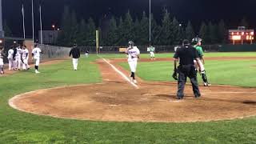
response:
<path id="1" fill-rule="evenodd" d="M 229 38 L 233 41 L 233 44 L 236 42 L 250 42 L 252 44 L 254 40 L 254 30 L 246 30 L 245 26 L 239 26 L 238 30 L 229 30 Z"/>

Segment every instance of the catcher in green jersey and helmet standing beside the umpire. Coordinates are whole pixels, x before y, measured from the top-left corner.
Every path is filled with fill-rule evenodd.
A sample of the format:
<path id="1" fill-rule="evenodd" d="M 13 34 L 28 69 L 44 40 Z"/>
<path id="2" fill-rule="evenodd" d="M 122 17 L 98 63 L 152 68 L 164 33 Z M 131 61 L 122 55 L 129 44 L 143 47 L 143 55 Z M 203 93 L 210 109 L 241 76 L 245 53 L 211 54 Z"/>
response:
<path id="1" fill-rule="evenodd" d="M 208 82 L 208 79 L 206 77 L 206 70 L 203 66 L 205 64 L 205 59 L 203 58 L 203 51 L 202 51 L 202 39 L 201 38 L 193 38 L 192 43 L 194 44 L 194 48 L 197 50 L 200 61 L 196 62 L 194 60 L 194 65 L 198 69 L 198 65 L 200 65 L 201 69 L 199 69 L 200 74 L 202 75 L 202 81 L 204 86 L 211 86 L 211 84 Z"/>

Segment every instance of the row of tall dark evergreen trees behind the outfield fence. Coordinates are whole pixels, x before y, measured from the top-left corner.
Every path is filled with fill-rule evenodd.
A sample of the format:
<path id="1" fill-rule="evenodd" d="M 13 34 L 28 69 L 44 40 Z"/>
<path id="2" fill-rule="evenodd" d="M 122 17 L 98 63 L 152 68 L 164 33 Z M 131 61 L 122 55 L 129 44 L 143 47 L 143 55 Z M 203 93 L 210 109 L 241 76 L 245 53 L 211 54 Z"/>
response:
<path id="1" fill-rule="evenodd" d="M 126 46 L 133 40 L 136 45 L 150 45 L 149 17 L 142 12 L 141 18 L 133 18 L 128 11 L 124 17 L 112 16 L 106 26 L 96 26 L 94 19 L 82 19 L 78 22 L 74 11 L 65 7 L 62 14 L 61 28 L 57 43 L 59 46 L 95 46 L 95 30 L 100 31 L 100 46 Z M 246 20 L 242 22 L 246 24 Z M 168 10 L 163 10 L 161 22 L 154 19 L 151 14 L 151 44 L 157 46 L 178 45 L 182 39 L 191 40 L 200 37 L 205 44 L 221 44 L 228 42 L 228 29 L 225 22 L 202 22 L 198 31 L 189 21 L 181 24 L 177 18 L 172 17 Z"/>

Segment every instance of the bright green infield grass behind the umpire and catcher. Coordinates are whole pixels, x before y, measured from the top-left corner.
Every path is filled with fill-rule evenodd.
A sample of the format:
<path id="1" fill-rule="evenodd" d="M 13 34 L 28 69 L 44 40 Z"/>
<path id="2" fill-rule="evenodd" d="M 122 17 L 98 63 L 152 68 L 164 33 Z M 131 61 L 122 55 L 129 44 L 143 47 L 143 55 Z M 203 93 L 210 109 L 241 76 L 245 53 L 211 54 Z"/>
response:
<path id="1" fill-rule="evenodd" d="M 120 64 L 130 70 L 127 62 Z M 256 87 L 256 60 L 235 61 L 206 61 L 207 77 L 212 84 Z M 146 81 L 174 81 L 171 74 L 174 70 L 173 62 L 139 62 L 138 76 Z M 202 82 L 202 78 L 199 78 Z"/>

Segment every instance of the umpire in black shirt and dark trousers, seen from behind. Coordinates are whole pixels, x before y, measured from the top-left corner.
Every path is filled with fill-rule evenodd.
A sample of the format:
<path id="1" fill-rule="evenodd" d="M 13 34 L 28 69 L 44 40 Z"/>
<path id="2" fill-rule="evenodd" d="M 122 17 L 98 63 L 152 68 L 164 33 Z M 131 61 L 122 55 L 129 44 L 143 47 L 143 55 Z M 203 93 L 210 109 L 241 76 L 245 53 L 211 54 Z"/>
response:
<path id="1" fill-rule="evenodd" d="M 186 78 L 190 78 L 192 83 L 194 97 L 199 98 L 201 96 L 198 87 L 197 71 L 194 67 L 194 59 L 199 61 L 197 51 L 190 45 L 188 40 L 182 42 L 182 47 L 177 49 L 174 54 L 174 73 L 178 73 L 178 99 L 184 97 L 184 88 L 186 85 Z M 179 66 L 177 69 L 177 62 L 179 60 Z"/>

